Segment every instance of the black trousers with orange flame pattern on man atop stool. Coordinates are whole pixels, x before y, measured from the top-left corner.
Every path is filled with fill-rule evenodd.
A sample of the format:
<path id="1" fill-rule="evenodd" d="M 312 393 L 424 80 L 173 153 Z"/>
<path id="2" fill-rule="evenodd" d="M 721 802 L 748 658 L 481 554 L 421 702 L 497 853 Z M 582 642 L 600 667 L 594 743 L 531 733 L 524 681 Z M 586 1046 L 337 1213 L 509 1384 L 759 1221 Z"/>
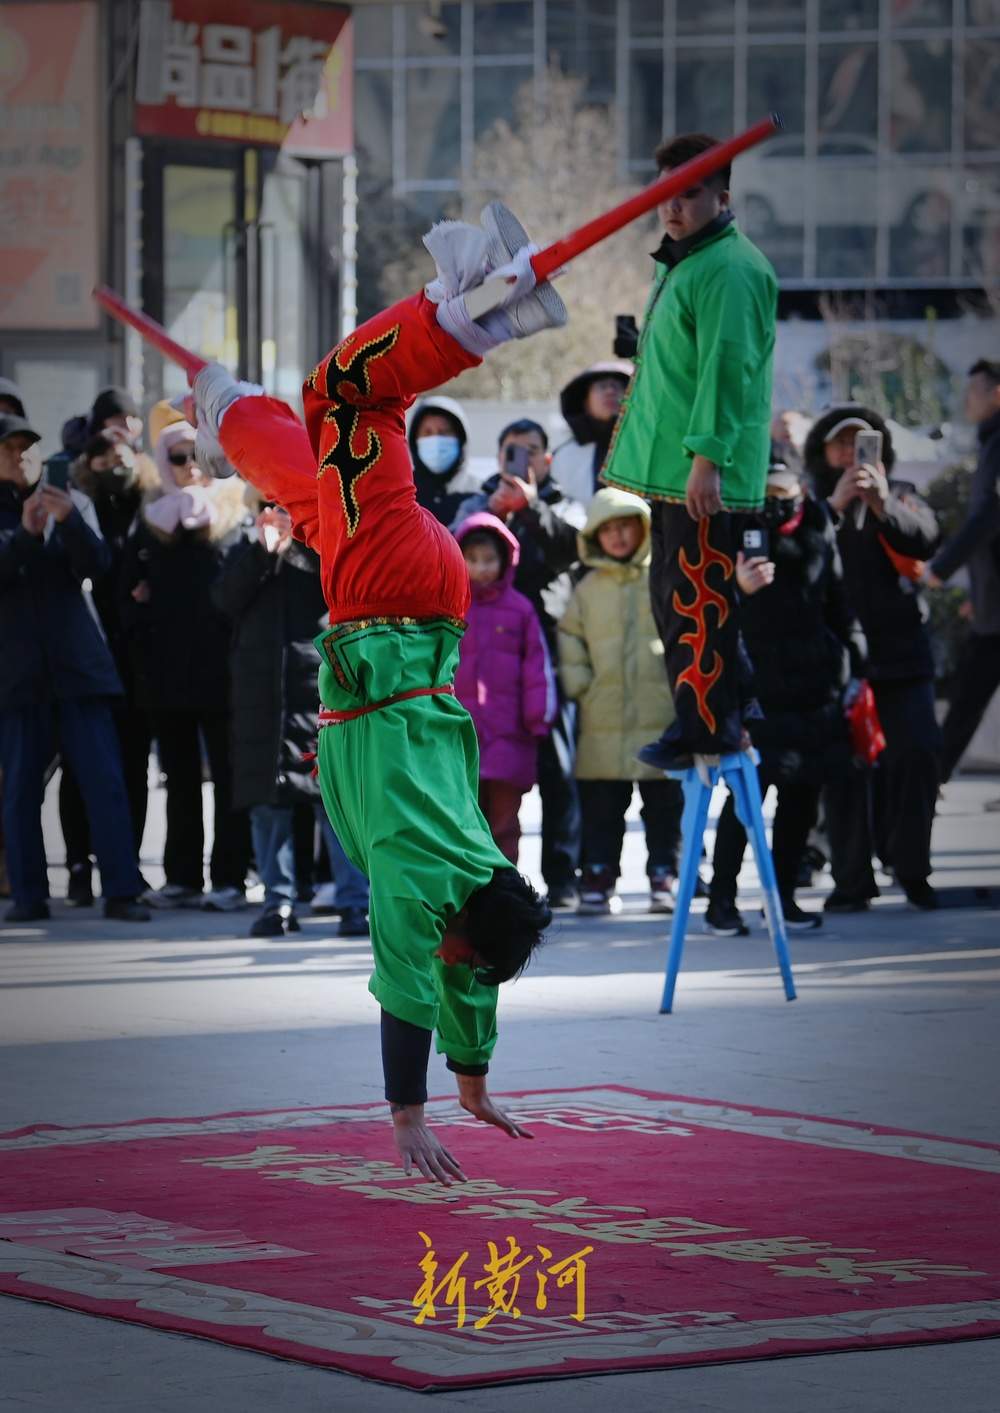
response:
<path id="1" fill-rule="evenodd" d="M 685 506 L 653 503 L 653 616 L 667 657 L 677 721 L 671 753 L 739 750 L 742 733 L 736 552 L 743 516 L 692 520 Z"/>

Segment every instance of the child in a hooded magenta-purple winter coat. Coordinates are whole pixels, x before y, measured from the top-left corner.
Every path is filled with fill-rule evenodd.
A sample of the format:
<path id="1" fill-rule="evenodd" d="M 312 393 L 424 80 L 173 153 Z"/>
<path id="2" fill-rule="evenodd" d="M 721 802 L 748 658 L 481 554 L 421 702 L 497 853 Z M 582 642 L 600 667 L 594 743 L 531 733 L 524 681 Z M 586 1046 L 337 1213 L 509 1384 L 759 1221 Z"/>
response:
<path id="1" fill-rule="evenodd" d="M 472 585 L 455 695 L 479 736 L 479 807 L 497 848 L 517 865 L 517 815 L 537 780 L 538 738 L 555 716 L 555 674 L 538 616 L 513 585 L 516 537 L 482 512 L 463 520 L 455 538 Z"/>

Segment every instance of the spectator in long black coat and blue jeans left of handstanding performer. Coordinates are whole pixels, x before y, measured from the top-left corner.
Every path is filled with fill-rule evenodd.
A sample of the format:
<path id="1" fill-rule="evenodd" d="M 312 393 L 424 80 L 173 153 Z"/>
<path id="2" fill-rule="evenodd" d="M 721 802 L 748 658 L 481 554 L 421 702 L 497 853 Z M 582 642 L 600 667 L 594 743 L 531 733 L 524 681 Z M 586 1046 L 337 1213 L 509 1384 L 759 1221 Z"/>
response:
<path id="1" fill-rule="evenodd" d="M 229 551 L 212 602 L 233 622 L 230 654 L 233 805 L 250 810 L 264 907 L 251 937 L 299 930 L 294 810 L 315 810 L 336 879 L 340 937 L 367 935 L 369 885 L 326 818 L 314 770 L 319 658 L 329 629 L 319 555 L 292 538 L 291 517 L 266 507 Z"/>

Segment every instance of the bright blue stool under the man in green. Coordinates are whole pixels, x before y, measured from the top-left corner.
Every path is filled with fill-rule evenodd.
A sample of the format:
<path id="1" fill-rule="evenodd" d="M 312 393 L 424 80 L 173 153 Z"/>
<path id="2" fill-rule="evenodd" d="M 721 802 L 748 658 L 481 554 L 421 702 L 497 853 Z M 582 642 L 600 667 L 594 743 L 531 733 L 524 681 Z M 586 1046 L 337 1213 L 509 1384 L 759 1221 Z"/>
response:
<path id="1" fill-rule="evenodd" d="M 701 773 L 692 766 L 689 770 L 667 771 L 674 780 L 684 783 L 684 821 L 681 845 L 681 879 L 677 890 L 677 907 L 674 910 L 674 927 L 669 935 L 669 952 L 667 954 L 667 981 L 664 983 L 664 998 L 660 1003 L 660 1013 L 669 1015 L 674 1009 L 674 988 L 677 974 L 681 969 L 684 955 L 684 938 L 688 933 L 688 917 L 691 916 L 691 900 L 695 896 L 698 883 L 698 865 L 702 858 L 702 838 L 708 824 L 708 808 L 712 790 L 725 780 L 733 793 L 736 817 L 747 831 L 747 841 L 753 849 L 757 873 L 764 890 L 764 916 L 767 930 L 774 942 L 778 958 L 781 981 L 785 988 L 785 1000 L 795 1000 L 795 982 L 788 959 L 788 937 L 785 934 L 785 917 L 781 910 L 778 896 L 778 882 L 774 876 L 774 861 L 764 832 L 764 812 L 760 798 L 760 781 L 757 780 L 756 750 L 740 750 L 730 756 L 719 756 L 719 764 L 702 763 Z"/>

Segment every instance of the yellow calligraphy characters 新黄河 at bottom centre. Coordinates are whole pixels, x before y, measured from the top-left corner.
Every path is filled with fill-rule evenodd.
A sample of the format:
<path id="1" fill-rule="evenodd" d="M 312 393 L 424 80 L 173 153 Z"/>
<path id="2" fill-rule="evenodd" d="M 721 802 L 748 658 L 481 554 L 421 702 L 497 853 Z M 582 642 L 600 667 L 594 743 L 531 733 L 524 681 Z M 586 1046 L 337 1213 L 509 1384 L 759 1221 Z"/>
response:
<path id="1" fill-rule="evenodd" d="M 438 1318 L 436 1300 L 441 1306 L 455 1307 L 455 1328 L 460 1330 L 465 1325 L 466 1286 L 469 1279 L 462 1267 L 469 1259 L 469 1252 L 463 1251 L 458 1260 L 438 1280 L 439 1262 L 434 1243 L 427 1232 L 418 1232 L 418 1235 L 427 1251 L 419 1260 L 424 1280 L 412 1299 L 412 1304 L 417 1306 L 414 1324 L 421 1325 L 425 1320 Z M 475 1330 L 484 1330 L 499 1314 L 506 1314 L 511 1320 L 521 1318 L 521 1310 L 516 1303 L 521 1287 L 521 1272 L 535 1260 L 531 1252 L 527 1256 L 523 1255 L 521 1248 L 513 1236 L 507 1238 L 506 1252 L 501 1252 L 496 1242 L 487 1242 L 486 1245 L 489 1248 L 489 1259 L 483 1262 L 486 1275 L 473 1283 L 473 1290 L 484 1290 L 490 1304 L 486 1314 L 475 1321 Z M 590 1255 L 593 1246 L 582 1246 L 571 1256 L 564 1256 L 562 1260 L 552 1262 L 551 1266 L 544 1265 L 552 1260 L 552 1252 L 548 1246 L 538 1245 L 535 1251 L 540 1256 L 540 1262 L 534 1270 L 535 1310 L 548 1308 L 547 1287 L 549 1280 L 555 1277 L 556 1287 L 572 1286 L 575 1290 L 576 1303 L 571 1318 L 581 1323 L 586 1320 L 586 1260 L 583 1258 Z"/>

